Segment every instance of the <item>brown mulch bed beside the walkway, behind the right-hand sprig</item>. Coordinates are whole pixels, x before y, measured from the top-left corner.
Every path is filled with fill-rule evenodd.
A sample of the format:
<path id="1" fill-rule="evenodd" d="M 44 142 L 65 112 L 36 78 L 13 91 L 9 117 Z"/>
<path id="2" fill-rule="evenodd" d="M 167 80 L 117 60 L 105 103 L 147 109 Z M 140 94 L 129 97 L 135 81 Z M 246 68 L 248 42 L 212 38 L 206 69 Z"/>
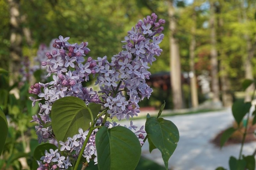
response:
<path id="1" fill-rule="evenodd" d="M 237 130 L 236 132 L 234 132 L 233 135 L 224 144 L 224 146 L 241 143 L 244 130 L 245 130 L 245 128 L 241 128 L 240 130 Z M 245 143 L 256 141 L 256 137 L 253 133 L 254 130 L 256 130 L 255 125 L 254 126 L 249 126 L 249 128 L 247 129 L 247 135 L 245 137 Z M 218 133 L 215 136 L 215 138 L 211 140 L 211 143 L 215 144 L 215 146 L 220 147 L 221 136 L 224 133 L 224 131 L 225 130 Z"/>

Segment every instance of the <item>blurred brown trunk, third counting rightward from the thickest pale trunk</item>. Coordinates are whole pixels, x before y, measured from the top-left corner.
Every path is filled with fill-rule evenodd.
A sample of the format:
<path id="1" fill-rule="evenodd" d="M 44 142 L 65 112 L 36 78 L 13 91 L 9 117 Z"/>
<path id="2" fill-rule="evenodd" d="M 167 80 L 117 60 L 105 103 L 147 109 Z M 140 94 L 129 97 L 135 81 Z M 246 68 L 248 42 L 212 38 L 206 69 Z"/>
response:
<path id="1" fill-rule="evenodd" d="M 211 75 L 213 102 L 219 102 L 219 77 L 218 77 L 218 53 L 216 49 L 216 29 L 215 29 L 215 7 L 214 1 L 210 3 L 210 36 L 211 36 Z"/>

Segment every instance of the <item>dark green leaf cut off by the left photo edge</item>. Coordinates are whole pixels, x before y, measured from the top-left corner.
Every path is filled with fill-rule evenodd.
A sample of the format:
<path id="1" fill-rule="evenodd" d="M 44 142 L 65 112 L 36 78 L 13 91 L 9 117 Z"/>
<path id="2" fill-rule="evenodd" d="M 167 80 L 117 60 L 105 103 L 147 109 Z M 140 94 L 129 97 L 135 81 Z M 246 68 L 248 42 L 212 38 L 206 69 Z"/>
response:
<path id="1" fill-rule="evenodd" d="M 0 134 L 1 134 L 1 140 L 0 140 L 0 155 L 1 155 L 5 145 L 6 137 L 8 134 L 8 122 L 1 108 L 0 108 Z"/>

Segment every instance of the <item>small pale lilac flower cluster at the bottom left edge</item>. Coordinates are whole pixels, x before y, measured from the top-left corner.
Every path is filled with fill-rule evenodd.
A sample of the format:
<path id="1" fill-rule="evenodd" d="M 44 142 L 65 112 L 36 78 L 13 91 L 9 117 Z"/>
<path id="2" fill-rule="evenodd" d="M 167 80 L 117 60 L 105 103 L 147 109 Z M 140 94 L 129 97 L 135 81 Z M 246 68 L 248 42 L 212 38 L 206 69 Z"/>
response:
<path id="1" fill-rule="evenodd" d="M 69 156 L 64 157 L 60 156 L 60 153 L 58 152 L 59 149 L 56 149 L 53 151 L 53 149 L 50 149 L 50 153 L 45 150 L 44 155 L 42 156 L 40 160 L 38 161 L 38 168 L 37 170 L 52 170 L 52 169 L 68 169 L 71 165 L 71 161 L 69 160 Z"/>

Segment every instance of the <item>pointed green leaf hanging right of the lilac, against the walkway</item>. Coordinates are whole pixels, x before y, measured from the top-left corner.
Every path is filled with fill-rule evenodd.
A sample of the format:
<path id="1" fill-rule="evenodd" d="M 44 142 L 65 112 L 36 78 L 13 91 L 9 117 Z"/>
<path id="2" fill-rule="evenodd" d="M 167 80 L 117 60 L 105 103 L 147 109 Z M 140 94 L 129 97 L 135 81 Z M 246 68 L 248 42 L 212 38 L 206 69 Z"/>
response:
<path id="1" fill-rule="evenodd" d="M 179 131 L 172 121 L 163 118 L 147 118 L 145 130 L 148 138 L 160 150 L 163 162 L 168 169 L 168 160 L 172 156 L 179 141 Z"/>

